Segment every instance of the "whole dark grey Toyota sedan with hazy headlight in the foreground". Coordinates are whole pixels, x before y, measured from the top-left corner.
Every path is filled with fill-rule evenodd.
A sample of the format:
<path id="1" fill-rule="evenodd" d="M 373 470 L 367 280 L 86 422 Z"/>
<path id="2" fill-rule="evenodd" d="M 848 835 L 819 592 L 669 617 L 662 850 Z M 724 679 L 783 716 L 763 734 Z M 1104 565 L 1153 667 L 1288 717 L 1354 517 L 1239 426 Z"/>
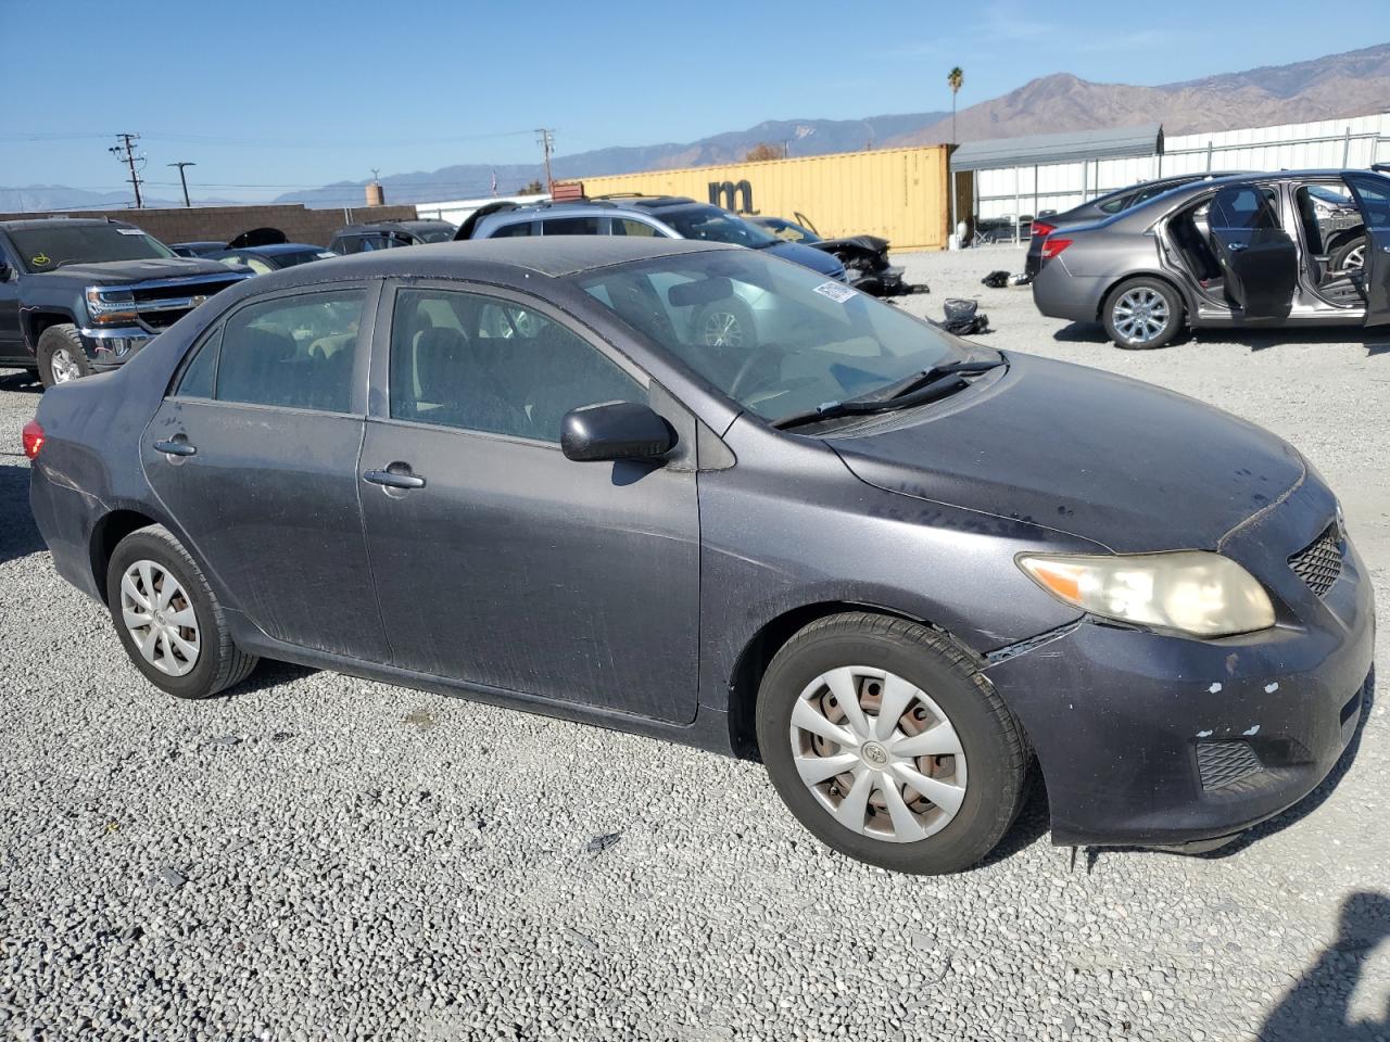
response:
<path id="1" fill-rule="evenodd" d="M 698 335 L 751 289 L 780 339 Z M 737 247 L 274 272 L 25 447 L 54 565 L 170 695 L 268 657 L 758 759 L 899 871 L 984 857 L 1034 757 L 1055 843 L 1218 843 L 1326 777 L 1371 668 L 1291 446 Z"/>

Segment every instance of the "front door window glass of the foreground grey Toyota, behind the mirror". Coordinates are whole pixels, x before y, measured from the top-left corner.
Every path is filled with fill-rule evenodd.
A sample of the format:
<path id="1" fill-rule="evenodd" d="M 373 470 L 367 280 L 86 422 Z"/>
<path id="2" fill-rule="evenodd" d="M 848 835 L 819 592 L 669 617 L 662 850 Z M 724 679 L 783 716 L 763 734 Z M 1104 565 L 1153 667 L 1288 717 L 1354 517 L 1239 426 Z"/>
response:
<path id="1" fill-rule="evenodd" d="M 559 443 L 571 408 L 645 402 L 588 340 L 520 304 L 402 289 L 391 320 L 391 415 Z"/>

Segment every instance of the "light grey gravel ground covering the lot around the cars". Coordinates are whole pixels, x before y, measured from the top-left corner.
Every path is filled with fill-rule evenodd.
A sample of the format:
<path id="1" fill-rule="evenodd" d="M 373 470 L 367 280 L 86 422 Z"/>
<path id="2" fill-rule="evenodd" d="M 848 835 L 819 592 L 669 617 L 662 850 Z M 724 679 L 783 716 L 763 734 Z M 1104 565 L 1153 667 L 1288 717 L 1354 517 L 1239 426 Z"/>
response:
<path id="1" fill-rule="evenodd" d="M 979 296 L 990 343 L 1293 440 L 1390 603 L 1390 338 L 1126 353 L 981 286 L 1009 247 L 901 260 L 931 285 L 909 310 Z M 1073 866 L 1037 795 L 984 867 L 895 877 L 817 846 L 752 764 L 274 664 L 164 697 L 33 529 L 36 402 L 0 374 L 0 1038 L 1390 1036 L 1383 706 L 1220 856 Z"/>

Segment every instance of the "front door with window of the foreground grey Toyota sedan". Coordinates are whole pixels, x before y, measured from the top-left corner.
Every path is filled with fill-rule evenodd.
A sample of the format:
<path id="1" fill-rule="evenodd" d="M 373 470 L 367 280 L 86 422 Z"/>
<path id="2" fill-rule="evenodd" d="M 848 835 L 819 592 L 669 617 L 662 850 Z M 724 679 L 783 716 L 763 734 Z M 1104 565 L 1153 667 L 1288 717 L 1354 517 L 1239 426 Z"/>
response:
<path id="1" fill-rule="evenodd" d="M 559 446 L 567 410 L 646 402 L 646 378 L 559 313 L 485 290 L 400 288 L 377 345 L 373 386 L 389 392 L 367 420 L 361 503 L 396 665 L 694 720 L 694 468 Z"/>

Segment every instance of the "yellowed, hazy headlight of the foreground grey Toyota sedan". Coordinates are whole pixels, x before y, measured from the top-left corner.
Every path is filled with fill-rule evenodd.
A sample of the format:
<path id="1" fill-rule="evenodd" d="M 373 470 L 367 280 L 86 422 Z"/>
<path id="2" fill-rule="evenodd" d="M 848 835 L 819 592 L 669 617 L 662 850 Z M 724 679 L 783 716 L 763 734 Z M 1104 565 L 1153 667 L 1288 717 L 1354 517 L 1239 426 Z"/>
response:
<path id="1" fill-rule="evenodd" d="M 1194 636 L 1248 634 L 1275 624 L 1265 588 L 1219 553 L 1022 554 L 1017 561 L 1052 596 L 1106 618 Z"/>

